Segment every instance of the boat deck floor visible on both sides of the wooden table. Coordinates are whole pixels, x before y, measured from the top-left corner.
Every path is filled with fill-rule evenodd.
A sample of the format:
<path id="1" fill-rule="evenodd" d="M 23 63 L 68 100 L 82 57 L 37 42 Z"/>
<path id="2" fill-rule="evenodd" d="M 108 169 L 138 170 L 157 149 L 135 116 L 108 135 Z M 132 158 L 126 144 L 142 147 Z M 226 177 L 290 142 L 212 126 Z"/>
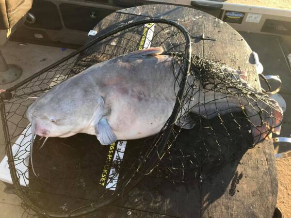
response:
<path id="1" fill-rule="evenodd" d="M 284 113 L 284 122 L 281 131 L 282 137 L 290 137 L 291 134 L 291 70 L 288 65 L 284 46 L 280 42 L 280 38 L 273 35 L 254 34 L 241 32 L 244 39 L 250 45 L 252 50 L 259 54 L 260 62 L 264 66 L 264 75 L 279 75 L 283 81 L 283 88 L 280 94 L 287 103 L 287 110 Z M 17 42 L 8 42 L 2 49 L 2 53 L 7 62 L 19 65 L 23 69 L 23 74 L 18 80 L 23 80 L 37 72 L 39 69 L 55 62 L 66 56 L 73 50 L 62 50 L 60 47 L 46 47 L 39 45 L 27 44 L 20 46 Z M 15 83 L 17 83 L 16 81 Z M 0 86 L 5 89 L 13 84 Z M 3 134 L 0 131 L 0 134 Z M 0 135 L 0 159 L 5 156 L 5 146 L 3 135 Z M 287 147 L 280 146 L 276 150 L 284 152 Z M 10 187 L 0 182 L 0 208 L 1 217 L 3 218 L 20 218 L 23 216 L 24 210 L 21 207 L 21 200 L 13 194 Z M 28 216 L 29 217 L 29 216 Z"/>

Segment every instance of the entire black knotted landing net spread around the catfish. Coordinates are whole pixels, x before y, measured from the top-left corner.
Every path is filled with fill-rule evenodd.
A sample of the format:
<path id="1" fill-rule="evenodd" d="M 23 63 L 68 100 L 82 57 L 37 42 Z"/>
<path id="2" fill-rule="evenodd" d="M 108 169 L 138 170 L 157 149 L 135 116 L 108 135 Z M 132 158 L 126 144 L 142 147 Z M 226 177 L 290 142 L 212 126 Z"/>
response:
<path id="1" fill-rule="evenodd" d="M 175 82 L 169 92 L 176 102 L 161 131 L 108 146 L 87 134 L 48 140 L 36 136 L 35 175 L 26 117 L 34 98 L 93 64 L 148 47 L 162 47 L 172 57 L 169 74 Z M 1 101 L 1 115 L 16 194 L 37 213 L 79 216 L 110 204 L 145 175 L 187 182 L 200 178 L 202 169 L 207 174 L 213 166 L 224 166 L 281 124 L 276 102 L 250 87 L 245 77 L 221 62 L 191 56 L 189 33 L 173 21 L 140 20 L 97 35 L 4 93 L 12 93 Z"/>

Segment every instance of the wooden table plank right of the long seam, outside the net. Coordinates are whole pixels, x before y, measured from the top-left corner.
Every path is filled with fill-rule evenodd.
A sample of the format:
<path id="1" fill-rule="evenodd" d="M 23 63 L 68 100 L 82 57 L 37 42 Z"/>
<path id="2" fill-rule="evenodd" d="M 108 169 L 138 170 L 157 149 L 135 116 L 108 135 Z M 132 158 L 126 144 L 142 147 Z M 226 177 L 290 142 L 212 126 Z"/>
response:
<path id="1" fill-rule="evenodd" d="M 216 41 L 204 42 L 204 56 L 218 59 L 248 72 L 248 82 L 260 88 L 256 68 L 249 62 L 252 50 L 242 36 L 226 23 L 205 23 L 204 34 Z M 232 175 L 231 182 L 226 183 Z M 222 192 L 221 190 L 225 190 Z M 219 193 L 221 192 L 221 193 Z M 273 217 L 277 198 L 274 147 L 270 140 L 260 142 L 219 174 L 204 181 L 201 189 L 202 217 Z"/>

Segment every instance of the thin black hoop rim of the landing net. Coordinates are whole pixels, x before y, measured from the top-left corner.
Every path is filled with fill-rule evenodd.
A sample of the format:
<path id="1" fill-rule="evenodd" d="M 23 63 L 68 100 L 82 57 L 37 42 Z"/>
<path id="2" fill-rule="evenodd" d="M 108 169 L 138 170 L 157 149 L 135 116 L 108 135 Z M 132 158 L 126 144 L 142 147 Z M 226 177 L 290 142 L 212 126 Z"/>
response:
<path id="1" fill-rule="evenodd" d="M 180 82 L 180 87 L 179 87 L 179 91 L 176 97 L 176 102 L 175 102 L 175 106 L 174 109 L 172 111 L 172 114 L 168 120 L 169 124 L 173 124 L 175 123 L 177 117 L 178 117 L 178 112 L 180 110 L 180 102 L 181 99 L 184 96 L 185 93 L 185 87 L 187 84 L 187 79 L 188 76 L 190 75 L 190 66 L 191 66 L 191 54 L 192 54 L 192 49 L 191 49 L 191 37 L 190 34 L 188 33 L 188 31 L 180 24 L 178 24 L 175 21 L 172 20 L 168 20 L 168 19 L 159 19 L 159 18 L 148 18 L 148 19 L 143 19 L 143 20 L 138 20 L 138 21 L 133 21 L 131 23 L 128 23 L 127 25 L 124 25 L 122 27 L 118 27 L 116 29 L 114 29 L 113 31 L 109 31 L 106 32 L 100 36 L 98 36 L 96 39 L 92 40 L 91 42 L 89 42 L 88 44 L 84 45 L 83 47 L 79 48 L 78 50 L 72 52 L 71 54 L 69 54 L 68 56 L 62 58 L 61 60 L 59 60 L 58 62 L 55 62 L 51 65 L 49 65 L 46 68 L 43 68 L 42 70 L 38 71 L 37 73 L 33 74 L 31 77 L 24 79 L 22 82 L 19 82 L 18 84 L 16 84 L 15 86 L 6 89 L 6 92 L 12 92 L 15 91 L 18 87 L 21 87 L 22 85 L 30 82 L 33 78 L 36 78 L 38 76 L 40 76 L 41 74 L 45 73 L 46 71 L 48 71 L 50 68 L 53 68 L 59 64 L 61 64 L 62 62 L 65 62 L 66 60 L 74 57 L 75 55 L 78 55 L 81 53 L 81 51 L 95 45 L 96 43 L 102 41 L 103 39 L 116 34 L 120 31 L 123 31 L 125 29 L 137 26 L 137 25 L 141 25 L 141 24 L 147 24 L 147 23 L 163 23 L 163 24 L 170 24 L 174 27 L 176 27 L 179 31 L 181 31 L 181 33 L 183 33 L 183 36 L 185 38 L 186 41 L 186 46 L 185 46 L 185 59 L 184 59 L 184 65 L 185 68 L 183 70 L 183 74 L 182 74 L 182 79 Z M 7 99 L 8 100 L 8 99 Z M 75 217 L 75 216 L 80 216 L 80 215 L 84 215 L 87 213 L 91 213 L 101 207 L 104 207 L 110 203 L 112 203 L 113 201 L 117 200 L 120 196 L 122 196 L 123 194 L 129 192 L 133 187 L 135 187 L 137 185 L 138 182 L 140 182 L 145 175 L 138 173 L 138 171 L 134 171 L 133 174 L 131 174 L 131 177 L 138 177 L 137 179 L 134 180 L 134 182 L 132 182 L 130 184 L 130 186 L 128 187 L 127 184 L 127 188 L 119 188 L 117 189 L 114 194 L 102 201 L 96 202 L 96 203 L 91 203 L 90 205 L 86 205 L 83 207 L 80 207 L 78 209 L 75 209 L 71 212 L 68 213 L 56 213 L 56 212 L 50 212 L 50 211 L 46 211 L 42 208 L 37 207 L 36 205 L 34 205 L 34 203 L 27 197 L 25 196 L 25 192 L 23 190 L 23 187 L 21 187 L 19 180 L 17 179 L 17 175 L 16 175 L 16 167 L 15 167 L 15 163 L 14 163 L 14 159 L 13 159 L 13 152 L 12 152 L 12 146 L 11 146 L 11 142 L 10 142 L 10 135 L 9 135 L 9 130 L 8 130 L 8 124 L 6 122 L 6 113 L 5 113 L 5 105 L 4 105 L 4 100 L 2 98 L 0 98 L 0 111 L 1 111 L 1 117 L 2 117 L 2 121 L 3 121 L 3 132 L 4 132 L 4 138 L 5 138 L 5 145 L 6 145 L 6 153 L 8 156 L 8 164 L 9 164 L 9 169 L 10 169 L 10 174 L 11 174 L 11 178 L 13 181 L 13 185 L 15 186 L 16 189 L 16 193 L 17 195 L 22 199 L 23 202 L 25 202 L 25 204 L 27 206 L 29 206 L 30 208 L 32 208 L 32 210 L 36 211 L 39 214 L 45 215 L 45 216 L 50 216 L 50 217 Z M 165 147 L 166 147 L 166 142 L 169 139 L 169 136 L 172 132 L 173 129 L 173 125 L 168 125 L 168 127 L 166 127 L 166 130 L 164 132 L 164 137 L 162 138 L 162 140 L 159 142 L 159 145 L 157 146 L 157 150 L 155 152 L 156 156 L 152 157 L 148 163 L 146 164 L 146 168 L 149 169 L 151 167 L 153 167 L 156 162 L 158 161 L 160 155 L 162 154 L 162 152 L 164 151 Z M 137 167 L 137 169 L 141 166 L 141 164 Z M 130 183 L 130 182 L 129 182 Z"/>

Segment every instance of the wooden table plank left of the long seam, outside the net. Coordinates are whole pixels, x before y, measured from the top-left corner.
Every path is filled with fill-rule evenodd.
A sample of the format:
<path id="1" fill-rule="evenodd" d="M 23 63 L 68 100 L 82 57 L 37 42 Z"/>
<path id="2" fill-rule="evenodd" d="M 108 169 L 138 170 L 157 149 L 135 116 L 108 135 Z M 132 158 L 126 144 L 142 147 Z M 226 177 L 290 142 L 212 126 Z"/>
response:
<path id="1" fill-rule="evenodd" d="M 107 16 L 100 21 L 94 28 L 99 34 L 113 30 L 119 25 L 123 25 L 132 20 L 145 19 L 147 17 L 163 17 L 166 19 L 179 20 L 179 15 L 185 8 L 173 7 L 170 5 L 162 6 L 163 13 L 157 13 L 155 10 L 156 5 L 144 7 L 129 8 L 118 11 Z M 158 10 L 159 11 L 159 10 Z M 191 11 L 186 11 L 190 18 Z M 197 16 L 205 16 L 203 12 L 197 11 Z M 140 14 L 140 16 L 135 16 Z M 175 16 L 173 16 L 175 15 Z M 187 17 L 185 17 L 187 18 Z M 203 27 L 191 25 L 189 23 L 181 22 L 184 27 L 191 28 L 191 32 L 196 35 L 202 32 Z M 95 37 L 90 37 L 89 40 Z M 193 50 L 196 55 L 202 56 L 202 40 L 194 40 Z M 107 48 L 108 49 L 108 48 Z M 200 183 L 195 180 L 192 186 L 179 185 L 176 186 L 164 179 L 157 179 L 147 176 L 123 199 L 114 202 L 113 205 L 125 206 L 127 208 L 137 208 L 142 211 L 150 211 L 156 214 L 165 214 L 174 217 L 200 217 Z"/>

